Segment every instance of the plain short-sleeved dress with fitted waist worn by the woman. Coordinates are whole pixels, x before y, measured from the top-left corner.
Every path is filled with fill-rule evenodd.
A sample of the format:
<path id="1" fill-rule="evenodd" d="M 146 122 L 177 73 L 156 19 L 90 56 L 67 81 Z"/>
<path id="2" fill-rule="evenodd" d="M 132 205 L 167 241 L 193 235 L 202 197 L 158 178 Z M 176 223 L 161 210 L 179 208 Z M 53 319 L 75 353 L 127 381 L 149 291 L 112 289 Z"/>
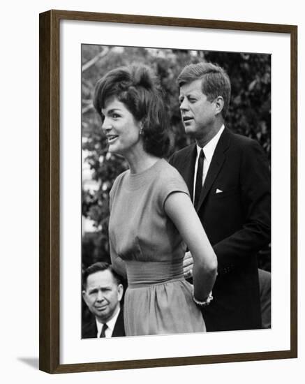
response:
<path id="1" fill-rule="evenodd" d="M 188 188 L 164 159 L 137 174 L 130 170 L 110 191 L 110 254 L 114 269 L 126 268 L 126 336 L 206 332 L 191 284 L 184 279 L 186 247 L 165 214 L 170 193 Z"/>

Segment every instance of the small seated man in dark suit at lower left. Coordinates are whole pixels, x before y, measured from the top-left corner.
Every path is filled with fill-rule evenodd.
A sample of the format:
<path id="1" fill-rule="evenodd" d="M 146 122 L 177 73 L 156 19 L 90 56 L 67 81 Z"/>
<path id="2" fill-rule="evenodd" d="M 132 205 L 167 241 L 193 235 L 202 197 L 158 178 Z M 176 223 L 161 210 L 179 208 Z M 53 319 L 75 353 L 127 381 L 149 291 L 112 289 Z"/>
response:
<path id="1" fill-rule="evenodd" d="M 82 325 L 82 339 L 125 336 L 120 308 L 124 288 L 119 275 L 108 263 L 90 265 L 82 276 L 82 297 L 93 314 Z"/>

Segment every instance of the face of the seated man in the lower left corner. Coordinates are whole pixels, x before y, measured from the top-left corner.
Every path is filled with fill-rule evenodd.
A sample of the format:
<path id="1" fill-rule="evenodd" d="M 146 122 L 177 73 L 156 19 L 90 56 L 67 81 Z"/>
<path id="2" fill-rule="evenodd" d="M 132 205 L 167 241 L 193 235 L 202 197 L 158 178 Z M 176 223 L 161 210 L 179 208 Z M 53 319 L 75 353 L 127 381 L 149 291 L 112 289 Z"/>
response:
<path id="1" fill-rule="evenodd" d="M 123 295 L 123 286 L 117 285 L 112 273 L 106 269 L 89 274 L 82 295 L 90 311 L 102 323 L 114 316 Z"/>

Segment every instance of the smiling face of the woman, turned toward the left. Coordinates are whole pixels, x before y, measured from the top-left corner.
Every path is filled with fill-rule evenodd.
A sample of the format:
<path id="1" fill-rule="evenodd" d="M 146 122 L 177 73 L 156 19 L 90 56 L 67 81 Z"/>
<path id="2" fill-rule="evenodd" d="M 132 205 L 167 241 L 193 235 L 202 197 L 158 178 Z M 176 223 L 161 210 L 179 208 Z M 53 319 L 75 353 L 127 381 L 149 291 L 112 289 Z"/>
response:
<path id="1" fill-rule="evenodd" d="M 142 145 L 140 140 L 140 122 L 135 120 L 124 103 L 110 98 L 102 109 L 103 131 L 109 143 L 109 152 L 126 156 Z"/>

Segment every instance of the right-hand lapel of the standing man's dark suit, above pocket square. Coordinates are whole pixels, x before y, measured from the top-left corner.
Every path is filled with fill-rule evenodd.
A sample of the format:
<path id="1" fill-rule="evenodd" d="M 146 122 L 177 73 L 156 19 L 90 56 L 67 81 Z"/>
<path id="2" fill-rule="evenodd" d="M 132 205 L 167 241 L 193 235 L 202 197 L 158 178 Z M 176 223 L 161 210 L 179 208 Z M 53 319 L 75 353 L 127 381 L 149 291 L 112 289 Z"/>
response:
<path id="1" fill-rule="evenodd" d="M 204 202 L 204 199 L 207 197 L 211 186 L 213 185 L 219 171 L 223 166 L 223 163 L 225 161 L 225 151 L 228 149 L 229 145 L 230 131 L 228 131 L 228 128 L 225 128 L 225 130 L 221 134 L 221 137 L 218 140 L 213 157 L 211 158 L 211 164 L 209 165 L 207 177 L 204 180 L 198 206 L 196 207 L 197 212 L 200 209 L 202 203 Z"/>

